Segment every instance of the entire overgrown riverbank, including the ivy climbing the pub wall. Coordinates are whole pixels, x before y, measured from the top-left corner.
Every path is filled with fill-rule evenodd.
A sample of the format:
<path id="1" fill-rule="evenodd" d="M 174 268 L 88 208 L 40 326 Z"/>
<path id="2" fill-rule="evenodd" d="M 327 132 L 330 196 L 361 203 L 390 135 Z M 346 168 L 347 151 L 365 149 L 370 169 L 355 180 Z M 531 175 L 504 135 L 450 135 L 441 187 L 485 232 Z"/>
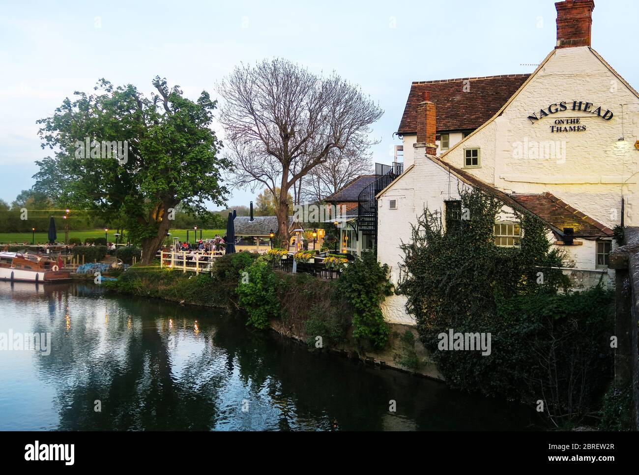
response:
<path id="1" fill-rule="evenodd" d="M 311 350 L 348 352 L 365 361 L 442 377 L 464 391 L 521 401 L 549 427 L 579 424 L 625 428 L 626 389 L 611 387 L 613 297 L 602 286 L 566 290 L 562 256 L 552 251 L 543 224 L 518 216 L 521 247 L 493 244 L 502 204 L 464 192 L 470 219 L 442 229 L 427 210 L 404 244 L 403 279 L 392 288 L 389 269 L 373 253 L 348 264 L 339 279 L 287 274 L 281 250 L 265 256 L 218 258 L 208 274 L 133 266 L 117 292 L 183 304 L 224 308 L 255 331 L 296 338 Z M 297 256 L 304 261 L 305 256 Z M 343 267 L 335 258 L 332 265 Z M 380 304 L 390 292 L 408 297 L 417 327 L 392 325 Z M 442 350 L 441 334 L 491 334 L 491 350 Z"/>

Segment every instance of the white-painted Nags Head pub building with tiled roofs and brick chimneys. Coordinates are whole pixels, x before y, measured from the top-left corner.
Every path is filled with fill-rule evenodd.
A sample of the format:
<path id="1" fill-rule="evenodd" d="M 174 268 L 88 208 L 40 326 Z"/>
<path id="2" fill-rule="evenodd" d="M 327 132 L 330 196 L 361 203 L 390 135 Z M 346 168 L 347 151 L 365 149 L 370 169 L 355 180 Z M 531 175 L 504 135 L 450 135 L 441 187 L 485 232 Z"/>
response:
<path id="1" fill-rule="evenodd" d="M 613 283 L 613 228 L 639 226 L 639 95 L 591 47 L 594 1 L 555 6 L 557 44 L 532 74 L 413 82 L 397 132 L 403 173 L 376 196 L 392 279 L 424 208 L 445 217 L 459 187 L 478 187 L 505 203 L 496 245 L 519 245 L 512 209 L 525 208 L 563 246 L 574 288 Z M 385 318 L 412 323 L 405 303 L 389 297 Z"/>

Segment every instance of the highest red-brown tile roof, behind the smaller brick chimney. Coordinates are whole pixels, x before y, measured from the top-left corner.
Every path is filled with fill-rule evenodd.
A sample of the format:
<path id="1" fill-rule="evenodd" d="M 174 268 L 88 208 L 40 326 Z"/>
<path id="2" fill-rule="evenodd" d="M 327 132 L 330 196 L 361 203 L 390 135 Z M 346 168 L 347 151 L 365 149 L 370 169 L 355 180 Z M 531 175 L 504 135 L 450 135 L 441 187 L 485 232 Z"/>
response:
<path id="1" fill-rule="evenodd" d="M 474 130 L 495 115 L 528 76 L 504 74 L 413 82 L 397 134 L 417 132 L 417 107 L 425 91 L 436 106 L 437 132 Z"/>

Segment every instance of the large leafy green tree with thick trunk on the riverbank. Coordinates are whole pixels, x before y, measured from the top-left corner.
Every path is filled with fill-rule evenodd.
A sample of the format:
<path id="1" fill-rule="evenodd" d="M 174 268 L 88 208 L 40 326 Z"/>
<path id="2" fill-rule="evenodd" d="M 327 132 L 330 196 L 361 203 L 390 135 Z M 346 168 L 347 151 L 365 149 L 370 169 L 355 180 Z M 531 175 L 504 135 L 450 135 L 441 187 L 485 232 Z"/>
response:
<path id="1" fill-rule="evenodd" d="M 107 220 L 124 216 L 144 264 L 171 228 L 176 206 L 204 212 L 205 201 L 224 205 L 221 171 L 230 165 L 210 128 L 216 102 L 208 93 L 193 102 L 160 77 L 153 87 L 157 92 L 146 97 L 131 84 L 101 79 L 96 93 L 65 98 L 38 121 L 42 148 L 56 152 L 36 162 L 35 175 L 36 191 L 58 205 L 95 210 Z M 117 152 L 105 146 L 114 142 Z"/>

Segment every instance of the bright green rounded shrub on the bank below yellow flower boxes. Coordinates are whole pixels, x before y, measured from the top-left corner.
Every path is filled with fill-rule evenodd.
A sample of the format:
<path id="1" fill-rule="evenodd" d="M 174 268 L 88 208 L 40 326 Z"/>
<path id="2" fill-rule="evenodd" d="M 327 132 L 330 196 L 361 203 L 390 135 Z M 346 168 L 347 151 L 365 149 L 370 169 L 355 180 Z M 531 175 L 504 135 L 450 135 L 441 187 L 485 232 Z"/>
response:
<path id="1" fill-rule="evenodd" d="M 247 275 L 238 279 L 236 288 L 240 306 L 249 314 L 247 325 L 262 330 L 270 318 L 279 316 L 275 272 L 261 259 L 254 260 L 245 272 Z"/>

